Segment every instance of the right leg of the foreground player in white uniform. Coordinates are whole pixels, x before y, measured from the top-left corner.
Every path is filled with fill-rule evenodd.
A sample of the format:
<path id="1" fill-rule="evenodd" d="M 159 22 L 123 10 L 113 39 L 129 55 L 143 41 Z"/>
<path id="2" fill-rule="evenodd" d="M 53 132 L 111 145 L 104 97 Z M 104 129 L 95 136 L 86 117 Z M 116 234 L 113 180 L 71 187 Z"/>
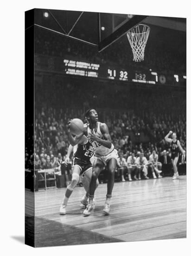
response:
<path id="1" fill-rule="evenodd" d="M 116 159 L 115 158 L 109 159 L 108 163 L 107 163 L 107 167 L 108 167 L 108 184 L 107 184 L 106 201 L 105 201 L 103 211 L 104 211 L 104 213 L 109 214 L 112 190 L 113 190 L 114 182 L 115 182 L 115 169 L 117 167 Z"/>

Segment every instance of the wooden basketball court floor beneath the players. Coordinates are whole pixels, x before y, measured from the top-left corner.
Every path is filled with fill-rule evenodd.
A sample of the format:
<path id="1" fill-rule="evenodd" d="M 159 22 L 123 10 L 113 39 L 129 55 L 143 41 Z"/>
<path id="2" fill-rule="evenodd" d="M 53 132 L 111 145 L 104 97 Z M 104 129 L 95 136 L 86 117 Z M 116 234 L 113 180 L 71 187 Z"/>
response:
<path id="1" fill-rule="evenodd" d="M 106 189 L 97 188 L 88 217 L 79 208 L 82 187 L 74 189 L 65 216 L 59 215 L 65 188 L 35 192 L 35 246 L 186 237 L 186 176 L 115 183 L 109 216 L 102 212 Z"/>

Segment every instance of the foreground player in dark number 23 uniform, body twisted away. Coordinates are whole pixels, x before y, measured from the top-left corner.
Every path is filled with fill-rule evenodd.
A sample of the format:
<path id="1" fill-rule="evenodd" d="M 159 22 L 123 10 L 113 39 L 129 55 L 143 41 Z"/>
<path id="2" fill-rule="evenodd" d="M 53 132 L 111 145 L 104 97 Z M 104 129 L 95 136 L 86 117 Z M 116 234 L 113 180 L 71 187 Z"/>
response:
<path id="1" fill-rule="evenodd" d="M 70 127 L 70 124 L 69 124 Z M 88 138 L 83 135 L 76 135 L 75 138 L 70 134 L 69 129 L 69 140 L 70 146 L 68 148 L 66 162 L 69 162 L 72 150 L 74 151 L 74 163 L 72 167 L 72 179 L 70 184 L 67 186 L 63 202 L 60 206 L 60 215 L 66 214 L 66 206 L 72 191 L 76 187 L 80 175 L 82 175 L 83 187 L 86 190 L 86 195 L 83 196 L 81 200 L 81 208 L 85 208 L 88 204 L 89 195 L 89 183 L 91 181 L 92 175 L 92 164 L 90 162 L 91 157 L 94 155 L 95 148 L 89 142 Z M 99 182 L 96 181 L 96 187 Z M 83 207 L 84 206 L 84 207 Z"/>

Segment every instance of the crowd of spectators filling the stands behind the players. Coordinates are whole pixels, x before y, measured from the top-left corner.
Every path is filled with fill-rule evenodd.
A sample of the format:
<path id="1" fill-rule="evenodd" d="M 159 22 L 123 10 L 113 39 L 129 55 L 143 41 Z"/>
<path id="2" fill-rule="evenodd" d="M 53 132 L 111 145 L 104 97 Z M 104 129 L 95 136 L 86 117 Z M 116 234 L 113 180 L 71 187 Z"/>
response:
<path id="1" fill-rule="evenodd" d="M 46 82 L 46 86 L 36 86 L 34 148 L 38 166 L 35 168 L 50 168 L 64 162 L 69 146 L 67 123 L 72 118 L 85 122 L 84 113 L 91 107 L 98 111 L 100 121 L 107 123 L 115 148 L 126 160 L 137 152 L 148 159 L 153 150 L 159 157 L 164 150 L 170 155 L 164 140 L 169 130 L 177 133 L 186 150 L 184 91 L 120 90 L 116 85 L 108 87 L 93 81 Z"/>

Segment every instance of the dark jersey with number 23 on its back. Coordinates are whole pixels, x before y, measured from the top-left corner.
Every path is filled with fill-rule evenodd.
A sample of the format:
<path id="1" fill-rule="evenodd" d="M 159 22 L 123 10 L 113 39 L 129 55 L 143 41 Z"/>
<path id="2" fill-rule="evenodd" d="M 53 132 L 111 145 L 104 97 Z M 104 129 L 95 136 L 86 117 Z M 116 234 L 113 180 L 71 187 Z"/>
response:
<path id="1" fill-rule="evenodd" d="M 75 158 L 80 159 L 83 162 L 89 162 L 89 159 L 94 155 L 95 148 L 88 141 L 86 144 L 78 144 L 77 150 L 74 154 Z"/>

